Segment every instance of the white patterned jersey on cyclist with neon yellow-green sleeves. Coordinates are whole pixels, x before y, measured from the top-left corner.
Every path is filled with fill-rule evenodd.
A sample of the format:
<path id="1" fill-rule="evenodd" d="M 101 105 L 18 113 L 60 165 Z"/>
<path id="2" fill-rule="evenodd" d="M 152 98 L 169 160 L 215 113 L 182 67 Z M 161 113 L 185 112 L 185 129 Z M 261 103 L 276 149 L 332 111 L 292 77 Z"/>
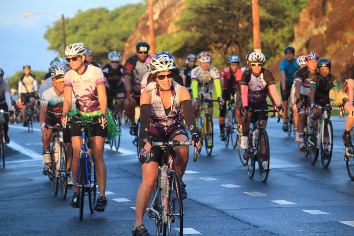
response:
<path id="1" fill-rule="evenodd" d="M 210 66 L 208 70 L 198 66 L 192 69 L 191 81 L 198 82 L 198 94 L 212 93 L 214 91 L 214 80 L 219 79 L 217 68 Z M 218 95 L 221 97 L 221 94 Z M 193 94 L 195 98 L 195 95 Z"/>

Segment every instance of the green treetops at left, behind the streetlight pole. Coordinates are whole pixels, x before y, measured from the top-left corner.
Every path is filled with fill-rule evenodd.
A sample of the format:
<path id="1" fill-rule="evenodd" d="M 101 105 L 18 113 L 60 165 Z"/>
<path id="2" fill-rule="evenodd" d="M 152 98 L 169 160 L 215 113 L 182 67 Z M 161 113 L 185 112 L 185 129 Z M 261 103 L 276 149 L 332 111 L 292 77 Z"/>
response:
<path id="1" fill-rule="evenodd" d="M 106 8 L 89 9 L 78 12 L 73 18 L 65 18 L 66 45 L 82 42 L 90 48 L 94 61 L 108 63 L 110 51 L 124 51 L 128 37 L 133 33 L 139 17 L 147 9 L 145 3 L 127 4 L 109 11 Z M 44 37 L 49 50 L 58 51 L 62 56 L 63 36 L 61 21 L 47 29 Z"/>

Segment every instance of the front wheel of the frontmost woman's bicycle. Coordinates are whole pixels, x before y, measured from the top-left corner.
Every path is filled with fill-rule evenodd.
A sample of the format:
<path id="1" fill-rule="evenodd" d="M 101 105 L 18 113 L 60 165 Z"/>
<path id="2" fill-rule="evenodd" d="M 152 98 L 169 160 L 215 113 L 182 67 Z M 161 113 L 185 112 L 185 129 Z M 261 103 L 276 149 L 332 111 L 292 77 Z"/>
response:
<path id="1" fill-rule="evenodd" d="M 176 172 L 169 173 L 167 210 L 167 235 L 183 236 L 183 203 L 180 198 L 180 185 Z"/>

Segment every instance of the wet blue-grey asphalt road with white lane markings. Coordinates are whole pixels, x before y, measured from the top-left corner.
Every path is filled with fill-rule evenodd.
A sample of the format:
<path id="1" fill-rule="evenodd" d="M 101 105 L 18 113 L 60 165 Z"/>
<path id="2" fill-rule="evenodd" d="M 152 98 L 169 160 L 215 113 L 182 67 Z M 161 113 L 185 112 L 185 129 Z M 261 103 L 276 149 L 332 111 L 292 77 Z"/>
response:
<path id="1" fill-rule="evenodd" d="M 256 173 L 251 180 L 237 150 L 225 148 L 214 120 L 215 147 L 211 156 L 203 148 L 197 162 L 191 158 L 183 177 L 188 198 L 183 201 L 185 234 L 238 235 L 354 235 L 354 182 L 343 160 L 344 119 L 332 117 L 333 158 L 328 169 L 321 161 L 311 166 L 293 137 L 270 118 L 267 131 L 271 172 L 266 183 Z M 51 182 L 42 174 L 39 124 L 28 132 L 10 125 L 6 168 L 0 164 L 0 235 L 131 235 L 136 192 L 142 181 L 141 165 L 129 128 L 123 127 L 118 150 L 106 145 L 108 206 L 90 214 L 70 206 L 73 189 L 65 200 L 53 196 Z M 255 193 L 256 192 L 256 193 Z M 259 196 L 254 196 L 259 195 Z M 144 224 L 155 234 L 155 220 Z"/>

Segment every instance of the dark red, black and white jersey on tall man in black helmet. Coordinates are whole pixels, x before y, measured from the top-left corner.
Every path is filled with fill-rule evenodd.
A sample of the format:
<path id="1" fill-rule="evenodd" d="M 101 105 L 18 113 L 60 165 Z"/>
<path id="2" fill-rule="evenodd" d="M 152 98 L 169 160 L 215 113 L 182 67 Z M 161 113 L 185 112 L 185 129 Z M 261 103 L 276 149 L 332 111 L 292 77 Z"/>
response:
<path id="1" fill-rule="evenodd" d="M 146 63 L 140 62 L 137 59 L 136 55 L 129 57 L 123 67 L 123 76 L 129 75 L 131 80 L 131 91 L 134 91 L 136 94 L 140 94 L 141 89 L 141 80 L 146 72 L 149 69 L 146 66 Z"/>

